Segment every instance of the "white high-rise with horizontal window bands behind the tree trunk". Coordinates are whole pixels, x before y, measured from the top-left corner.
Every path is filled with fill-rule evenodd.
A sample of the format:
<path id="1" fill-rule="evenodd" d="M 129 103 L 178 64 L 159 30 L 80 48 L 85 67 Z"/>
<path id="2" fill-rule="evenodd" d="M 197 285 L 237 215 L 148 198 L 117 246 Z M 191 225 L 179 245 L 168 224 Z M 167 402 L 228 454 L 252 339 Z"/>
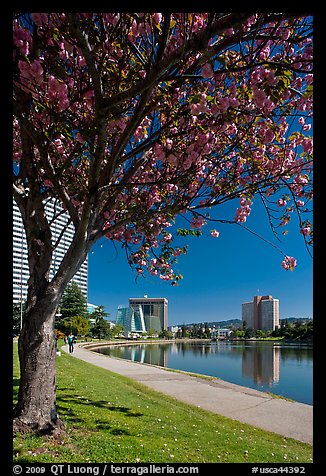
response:
<path id="1" fill-rule="evenodd" d="M 69 248 L 74 236 L 74 226 L 68 225 L 68 215 L 62 213 L 61 204 L 49 200 L 45 205 L 48 220 L 51 222 L 52 242 L 55 243 L 62 233 L 60 242 L 53 252 L 50 279 L 58 270 L 58 267 Z M 16 202 L 13 201 L 13 303 L 24 302 L 27 298 L 27 281 L 29 268 L 27 259 L 27 242 L 23 221 Z M 72 281 L 76 282 L 87 298 L 88 295 L 88 260 L 84 261 Z"/>

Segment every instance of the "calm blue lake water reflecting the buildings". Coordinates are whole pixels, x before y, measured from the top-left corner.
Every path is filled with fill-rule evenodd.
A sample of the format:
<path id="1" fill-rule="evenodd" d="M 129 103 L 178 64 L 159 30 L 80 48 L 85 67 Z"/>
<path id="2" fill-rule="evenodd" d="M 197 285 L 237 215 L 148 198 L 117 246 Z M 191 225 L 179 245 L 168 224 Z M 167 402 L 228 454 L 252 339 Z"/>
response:
<path id="1" fill-rule="evenodd" d="M 175 342 L 97 349 L 111 357 L 218 377 L 313 403 L 312 346 L 276 342 Z"/>

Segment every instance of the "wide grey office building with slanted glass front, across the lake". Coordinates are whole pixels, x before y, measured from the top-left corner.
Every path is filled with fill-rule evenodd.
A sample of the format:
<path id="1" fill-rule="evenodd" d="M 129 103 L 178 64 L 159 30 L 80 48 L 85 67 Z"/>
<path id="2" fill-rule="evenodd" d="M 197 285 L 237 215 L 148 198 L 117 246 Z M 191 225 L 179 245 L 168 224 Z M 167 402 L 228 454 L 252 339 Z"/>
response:
<path id="1" fill-rule="evenodd" d="M 126 332 L 162 332 L 168 325 L 168 300 L 166 298 L 130 298 L 129 307 L 119 306 L 117 324 Z"/>

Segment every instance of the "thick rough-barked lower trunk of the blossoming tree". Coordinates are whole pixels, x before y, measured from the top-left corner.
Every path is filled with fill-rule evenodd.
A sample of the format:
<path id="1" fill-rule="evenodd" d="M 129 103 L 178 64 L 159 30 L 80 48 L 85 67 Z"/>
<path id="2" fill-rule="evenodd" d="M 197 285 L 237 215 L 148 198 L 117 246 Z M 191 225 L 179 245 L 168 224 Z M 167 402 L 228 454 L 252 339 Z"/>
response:
<path id="1" fill-rule="evenodd" d="M 61 293 L 44 292 L 26 310 L 19 336 L 20 386 L 14 432 L 51 433 L 62 429 L 56 410 L 56 339 L 54 318 Z"/>

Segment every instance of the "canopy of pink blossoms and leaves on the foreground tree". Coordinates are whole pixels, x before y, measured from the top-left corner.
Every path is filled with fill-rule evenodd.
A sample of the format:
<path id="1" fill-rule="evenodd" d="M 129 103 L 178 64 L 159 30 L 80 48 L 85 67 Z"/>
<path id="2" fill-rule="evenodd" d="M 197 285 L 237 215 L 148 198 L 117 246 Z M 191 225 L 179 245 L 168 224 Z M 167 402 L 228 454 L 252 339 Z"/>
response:
<path id="1" fill-rule="evenodd" d="M 278 194 L 278 198 L 284 183 L 297 207 L 310 200 L 312 139 L 306 121 L 312 110 L 312 88 L 307 87 L 312 84 L 312 74 L 307 74 L 312 71 L 312 48 L 308 39 L 295 44 L 298 36 L 294 31 L 300 20 L 265 24 L 265 16 L 255 14 L 243 25 L 215 36 L 219 53 L 214 58 L 212 52 L 209 63 L 202 51 L 188 51 L 177 62 L 174 51 L 179 54 L 195 40 L 194 32 L 202 34 L 208 14 L 171 14 L 162 53 L 166 64 L 172 54 L 179 79 L 165 82 L 162 75 L 155 79 L 156 70 L 150 70 L 149 63 L 144 69 L 139 56 L 146 61 L 151 58 L 155 65 L 161 48 L 162 13 L 76 14 L 82 34 L 87 35 L 87 48 L 81 46 L 80 38 L 74 38 L 66 15 L 34 13 L 31 18 L 34 30 L 18 20 L 14 24 L 15 91 L 21 88 L 30 94 L 28 117 L 35 137 L 44 134 L 44 143 L 49 144 L 48 157 L 35 153 L 40 182 L 50 193 L 63 187 L 79 210 L 83 198 L 88 199 L 87 180 L 92 174 L 99 182 L 110 176 L 110 182 L 103 179 L 101 183 L 102 232 L 126 246 L 139 274 L 147 268 L 162 280 L 175 279 L 171 263 L 183 251 L 172 250 L 173 233 L 166 229 L 180 211 L 193 213 L 199 206 L 203 210 L 214 202 L 240 197 L 235 221 L 244 223 L 252 205 L 247 197 L 259 190 L 268 197 Z M 243 35 L 247 31 L 250 43 Z M 128 42 L 121 40 L 121 32 Z M 265 39 L 269 34 L 273 41 Z M 243 48 L 238 47 L 240 35 Z M 227 48 L 219 49 L 219 42 L 227 43 Z M 89 67 L 90 55 L 96 74 Z M 160 64 L 156 66 L 159 70 Z M 184 81 L 187 71 L 197 71 L 198 77 Z M 140 91 L 150 82 L 150 75 L 151 98 L 142 115 Z M 129 91 L 134 91 L 132 97 Z M 105 114 L 98 100 L 101 94 L 103 104 L 117 98 L 119 105 L 108 114 L 106 128 L 99 127 L 100 113 Z M 298 110 L 306 117 L 295 123 Z M 133 127 L 135 112 L 139 121 Z M 285 134 L 289 124 L 297 128 L 294 134 Z M 23 160 L 20 127 L 15 121 L 17 162 Z M 44 172 L 50 167 L 51 180 Z M 283 198 L 277 204 L 287 205 Z M 287 220 L 283 216 L 281 224 Z M 300 233 L 308 236 L 310 224 L 301 223 Z M 191 228 L 198 230 L 205 224 L 202 216 L 193 213 Z M 215 229 L 210 234 L 219 236 Z M 158 248 L 163 250 L 161 255 L 154 253 Z M 150 249 L 156 261 L 150 260 Z M 284 269 L 292 270 L 295 265 L 296 260 L 289 256 L 282 263 Z"/>

